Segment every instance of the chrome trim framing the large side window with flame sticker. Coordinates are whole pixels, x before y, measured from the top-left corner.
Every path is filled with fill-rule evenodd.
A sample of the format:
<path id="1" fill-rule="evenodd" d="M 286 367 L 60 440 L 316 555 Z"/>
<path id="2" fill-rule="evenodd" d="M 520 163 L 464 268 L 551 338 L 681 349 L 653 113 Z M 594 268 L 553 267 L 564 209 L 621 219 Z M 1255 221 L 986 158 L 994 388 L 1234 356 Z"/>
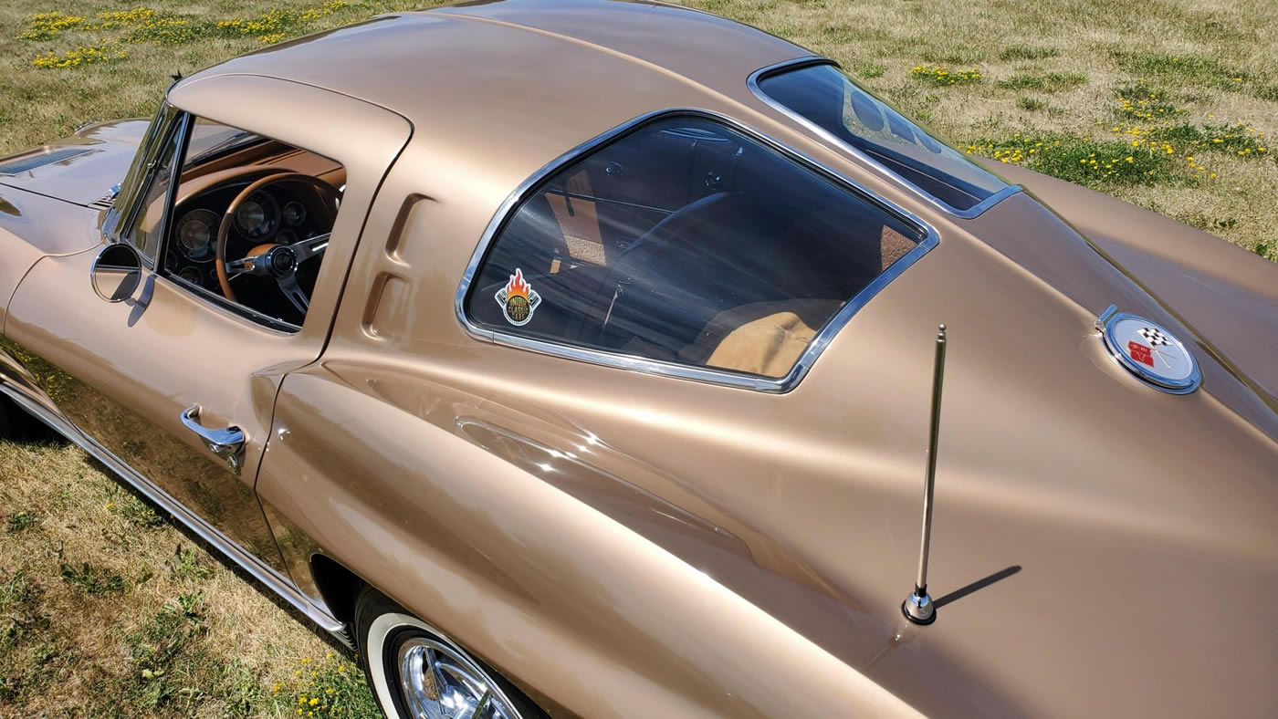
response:
<path id="1" fill-rule="evenodd" d="M 488 248 L 489 245 L 492 245 L 492 241 L 497 236 L 497 232 L 506 225 L 506 222 L 514 215 L 514 211 L 524 199 L 527 199 L 529 193 L 537 186 L 539 186 L 547 178 L 560 171 L 570 162 L 574 162 L 578 158 L 583 157 L 584 155 L 589 153 L 590 151 L 596 149 L 597 147 L 612 142 L 613 139 L 617 139 L 621 135 L 631 130 L 635 130 L 644 124 L 676 116 L 691 116 L 722 124 L 726 128 L 736 133 L 740 133 L 746 138 L 762 144 L 763 147 L 772 149 L 773 152 L 777 152 L 781 156 L 794 162 L 797 162 L 808 171 L 815 172 L 817 175 L 824 178 L 826 180 L 842 186 L 843 189 L 851 192 L 858 197 L 861 197 L 863 199 L 865 199 L 870 204 L 879 207 L 884 212 L 896 216 L 905 223 L 918 230 L 919 235 L 921 235 L 923 239 L 919 240 L 919 244 L 915 245 L 914 249 L 907 252 L 900 259 L 893 262 L 887 269 L 884 269 L 883 273 L 881 273 L 877 278 L 874 278 L 873 282 L 863 287 L 861 291 L 852 295 L 852 298 L 843 304 L 843 307 L 835 314 L 835 317 L 832 317 L 828 322 L 826 322 L 826 324 L 820 328 L 817 336 L 813 337 L 812 342 L 808 344 L 808 347 L 799 356 L 794 367 L 790 368 L 790 372 L 785 377 L 762 377 L 757 374 L 745 374 L 726 369 L 676 364 L 671 361 L 653 360 L 635 355 L 593 350 L 588 347 L 567 345 L 564 342 L 535 340 L 532 337 L 514 335 L 510 332 L 489 329 L 486 327 L 481 327 L 475 322 L 472 322 L 470 318 L 466 315 L 465 300 L 466 295 L 470 291 L 470 285 L 479 271 L 479 264 L 483 262 L 484 255 L 487 255 Z M 812 369 L 813 364 L 817 361 L 817 358 L 820 356 L 820 352 L 826 349 L 826 346 L 829 345 L 829 342 L 835 338 L 835 336 L 838 335 L 838 332 L 843 328 L 843 326 L 846 326 L 847 322 L 851 321 L 852 315 L 856 314 L 858 310 L 865 307 L 865 304 L 869 303 L 869 300 L 873 299 L 874 295 L 879 292 L 879 290 L 886 287 L 892 280 L 897 278 L 902 272 L 909 269 L 911 264 L 919 261 L 919 258 L 921 258 L 924 254 L 935 248 L 937 244 L 939 244 L 939 241 L 941 236 L 937 234 L 935 229 L 933 229 L 930 225 L 928 225 L 921 218 L 915 216 L 912 212 L 909 212 L 907 209 L 895 204 L 887 198 L 875 194 L 873 190 L 860 185 L 855 180 L 835 171 L 833 169 L 809 157 L 808 155 L 804 155 L 768 135 L 753 130 L 743 125 L 737 120 L 728 117 L 727 115 L 722 115 L 720 112 L 714 112 L 711 110 L 700 110 L 693 107 L 670 107 L 666 110 L 657 110 L 654 112 L 640 115 L 633 120 L 617 125 L 616 128 L 612 128 L 611 130 L 604 132 L 603 134 L 593 139 L 589 139 L 574 147 L 573 149 L 565 152 L 564 155 L 556 157 L 547 165 L 544 165 L 541 170 L 533 172 L 532 176 L 520 183 L 520 185 L 515 188 L 515 192 L 510 193 L 510 195 L 506 197 L 505 202 L 501 203 L 501 206 L 497 208 L 497 212 L 488 222 L 488 226 L 484 229 L 484 232 L 479 239 L 479 245 L 472 254 L 470 262 L 469 264 L 466 264 L 466 269 L 461 276 L 461 284 L 458 287 L 458 292 L 452 303 L 454 314 L 456 315 L 458 322 L 461 324 L 461 328 L 465 329 L 468 335 L 470 335 L 475 340 L 487 341 L 493 345 L 515 347 L 520 350 L 541 352 L 551 356 L 584 361 L 602 367 L 625 369 L 630 372 L 642 372 L 645 374 L 654 374 L 658 377 L 690 379 L 693 382 L 703 382 L 708 384 L 718 384 L 722 387 L 735 387 L 741 390 L 754 390 L 757 392 L 785 393 L 799 386 L 804 375 L 808 374 L 808 370 Z"/>

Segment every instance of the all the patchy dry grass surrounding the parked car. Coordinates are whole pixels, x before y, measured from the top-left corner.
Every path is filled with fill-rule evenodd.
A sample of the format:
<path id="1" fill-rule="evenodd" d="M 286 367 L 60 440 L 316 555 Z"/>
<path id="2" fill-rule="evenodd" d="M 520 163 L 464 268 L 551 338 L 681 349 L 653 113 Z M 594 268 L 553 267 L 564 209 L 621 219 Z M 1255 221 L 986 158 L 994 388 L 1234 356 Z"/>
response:
<path id="1" fill-rule="evenodd" d="M 175 73 L 429 0 L 5 0 L 0 155 L 150 116 Z M 685 0 L 974 155 L 1278 259 L 1272 0 Z M 367 715 L 349 658 L 78 450 L 0 442 L 0 715 Z"/>

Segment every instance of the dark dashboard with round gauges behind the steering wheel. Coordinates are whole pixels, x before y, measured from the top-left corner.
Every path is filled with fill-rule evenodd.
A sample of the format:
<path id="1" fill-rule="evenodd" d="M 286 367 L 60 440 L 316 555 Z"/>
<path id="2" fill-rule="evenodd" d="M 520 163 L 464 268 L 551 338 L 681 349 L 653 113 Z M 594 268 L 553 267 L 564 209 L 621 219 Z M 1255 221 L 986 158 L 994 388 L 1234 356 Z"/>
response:
<path id="1" fill-rule="evenodd" d="M 247 181 L 208 189 L 178 207 L 169 236 L 165 268 L 175 277 L 221 295 L 215 262 L 217 231 L 231 201 Z M 226 258 L 239 259 L 263 244 L 293 244 L 332 230 L 327 212 L 314 207 L 314 192 L 288 183 L 262 188 L 240 203 L 226 240 Z M 318 263 L 316 263 L 318 264 Z M 299 280 L 309 280 L 313 277 Z"/>

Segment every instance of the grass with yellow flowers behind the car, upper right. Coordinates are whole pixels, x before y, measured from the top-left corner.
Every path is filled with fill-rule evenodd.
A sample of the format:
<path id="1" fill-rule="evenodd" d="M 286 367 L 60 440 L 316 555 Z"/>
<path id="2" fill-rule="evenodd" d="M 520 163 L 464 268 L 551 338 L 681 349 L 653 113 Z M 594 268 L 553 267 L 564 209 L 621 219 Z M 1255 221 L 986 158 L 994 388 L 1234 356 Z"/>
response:
<path id="1" fill-rule="evenodd" d="M 1144 140 L 1166 140 L 1173 152 L 1169 163 L 1150 158 L 1139 176 L 1080 174 L 1063 160 L 1048 162 L 1036 155 L 1030 160 L 1022 153 L 1016 162 L 1059 172 L 1278 259 L 1274 147 L 1258 144 L 1251 153 L 1231 155 L 1171 132 L 1187 125 L 1212 134 L 1217 126 L 1241 124 L 1243 132 L 1254 128 L 1260 142 L 1278 133 L 1278 34 L 1268 20 L 1269 0 L 1162 0 L 1139 11 L 1107 0 L 962 0 L 943 10 L 915 0 L 684 4 L 735 17 L 838 60 L 957 147 L 999 148 L 1015 144 L 1019 133 L 1034 142 L 1059 140 L 1074 148 L 1071 157 L 1081 153 L 1076 160 L 1084 160 L 1097 152 L 1098 142 L 1130 146 L 1140 139 L 1145 148 Z M 884 72 L 860 72 L 869 65 Z M 975 70 L 980 77 L 950 84 L 955 78 L 937 79 L 937 66 L 951 75 Z M 1150 93 L 1159 97 L 1150 101 Z M 1222 140 L 1212 144 L 1228 142 Z M 1127 165 L 1131 152 L 1111 149 Z"/>

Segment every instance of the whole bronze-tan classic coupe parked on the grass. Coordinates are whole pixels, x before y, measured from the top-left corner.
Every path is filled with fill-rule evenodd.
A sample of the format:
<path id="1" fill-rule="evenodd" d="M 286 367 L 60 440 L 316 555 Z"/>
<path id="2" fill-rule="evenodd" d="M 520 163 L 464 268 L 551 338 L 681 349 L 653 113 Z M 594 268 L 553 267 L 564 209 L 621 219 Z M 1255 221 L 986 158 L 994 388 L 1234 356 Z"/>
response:
<path id="1" fill-rule="evenodd" d="M 377 17 L 0 161 L 0 209 L 10 416 L 389 716 L 1278 713 L 1278 267 L 785 40 Z"/>

